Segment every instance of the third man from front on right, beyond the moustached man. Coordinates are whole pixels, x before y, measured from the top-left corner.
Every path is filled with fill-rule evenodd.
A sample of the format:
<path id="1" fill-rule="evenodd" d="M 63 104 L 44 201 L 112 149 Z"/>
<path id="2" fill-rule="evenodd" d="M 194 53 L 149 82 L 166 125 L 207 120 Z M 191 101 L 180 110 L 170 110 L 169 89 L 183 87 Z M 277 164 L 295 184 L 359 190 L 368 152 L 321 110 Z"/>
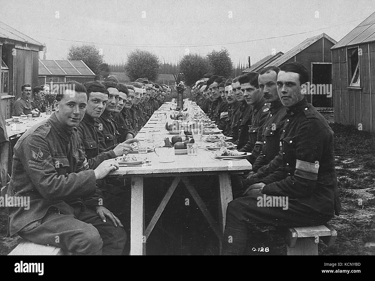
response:
<path id="1" fill-rule="evenodd" d="M 264 103 L 263 91 L 259 89 L 258 76 L 259 73 L 257 72 L 249 72 L 239 78 L 243 96 L 248 105 L 252 107 L 251 119 L 248 124 L 249 140 L 239 151 L 251 152 L 251 155 L 246 158 L 251 164 L 254 163 L 262 150 L 262 130 L 268 115 L 268 107 L 267 103 Z M 246 131 L 245 126 L 242 131 Z"/>

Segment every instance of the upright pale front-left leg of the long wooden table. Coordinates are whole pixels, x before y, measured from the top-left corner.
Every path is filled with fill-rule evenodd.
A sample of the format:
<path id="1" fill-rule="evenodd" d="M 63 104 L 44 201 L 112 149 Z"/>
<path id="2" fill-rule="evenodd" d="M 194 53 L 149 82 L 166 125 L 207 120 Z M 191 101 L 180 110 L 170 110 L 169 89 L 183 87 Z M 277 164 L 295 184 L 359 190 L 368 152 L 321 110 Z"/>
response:
<path id="1" fill-rule="evenodd" d="M 143 178 L 132 177 L 130 207 L 130 255 L 143 254 Z"/>

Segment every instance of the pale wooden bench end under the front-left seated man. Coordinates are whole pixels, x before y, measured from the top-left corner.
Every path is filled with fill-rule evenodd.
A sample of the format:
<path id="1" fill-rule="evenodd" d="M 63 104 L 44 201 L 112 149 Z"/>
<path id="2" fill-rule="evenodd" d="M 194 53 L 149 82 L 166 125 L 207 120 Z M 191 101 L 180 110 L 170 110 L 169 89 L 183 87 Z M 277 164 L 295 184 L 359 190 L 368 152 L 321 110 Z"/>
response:
<path id="1" fill-rule="evenodd" d="M 8 256 L 66 256 L 71 253 L 54 245 L 40 245 L 30 241 L 23 241 L 11 251 Z"/>

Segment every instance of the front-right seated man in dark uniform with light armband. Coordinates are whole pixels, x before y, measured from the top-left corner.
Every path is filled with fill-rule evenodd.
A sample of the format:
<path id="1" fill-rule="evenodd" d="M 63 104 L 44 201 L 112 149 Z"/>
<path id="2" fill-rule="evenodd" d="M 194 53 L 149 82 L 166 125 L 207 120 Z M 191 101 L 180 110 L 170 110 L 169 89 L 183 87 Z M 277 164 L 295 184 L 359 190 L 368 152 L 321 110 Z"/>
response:
<path id="1" fill-rule="evenodd" d="M 245 197 L 228 204 L 224 232 L 224 255 L 244 254 L 249 227 L 266 223 L 284 227 L 326 223 L 341 209 L 337 190 L 334 136 L 325 118 L 305 97 L 308 70 L 298 62 L 280 67 L 277 89 L 287 107 L 281 135 L 282 150 L 255 175 Z M 285 206 L 261 206 L 265 196 L 286 197 Z M 261 197 L 259 197 L 261 196 Z M 259 198 L 260 199 L 259 199 Z M 230 237 L 230 242 L 228 241 Z"/>

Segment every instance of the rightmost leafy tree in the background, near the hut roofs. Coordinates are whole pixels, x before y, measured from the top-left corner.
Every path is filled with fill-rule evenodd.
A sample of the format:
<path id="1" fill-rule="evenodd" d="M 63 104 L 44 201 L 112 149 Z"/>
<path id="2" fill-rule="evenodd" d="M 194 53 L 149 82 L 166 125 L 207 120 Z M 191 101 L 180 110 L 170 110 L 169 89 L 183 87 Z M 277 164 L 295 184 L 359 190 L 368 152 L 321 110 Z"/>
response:
<path id="1" fill-rule="evenodd" d="M 214 75 L 223 77 L 229 77 L 232 73 L 232 60 L 229 57 L 227 49 L 221 49 L 220 51 L 211 51 L 207 54 L 208 61 Z"/>

